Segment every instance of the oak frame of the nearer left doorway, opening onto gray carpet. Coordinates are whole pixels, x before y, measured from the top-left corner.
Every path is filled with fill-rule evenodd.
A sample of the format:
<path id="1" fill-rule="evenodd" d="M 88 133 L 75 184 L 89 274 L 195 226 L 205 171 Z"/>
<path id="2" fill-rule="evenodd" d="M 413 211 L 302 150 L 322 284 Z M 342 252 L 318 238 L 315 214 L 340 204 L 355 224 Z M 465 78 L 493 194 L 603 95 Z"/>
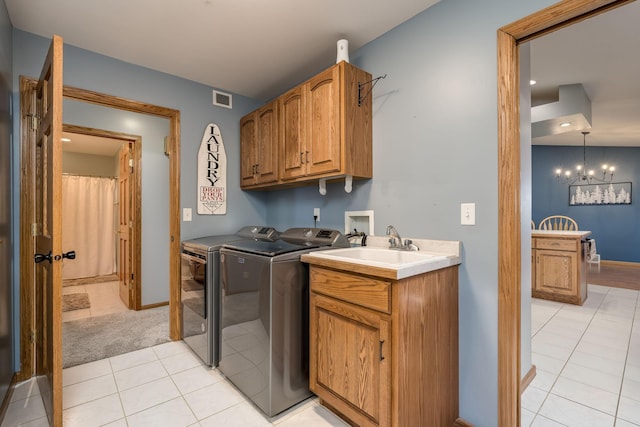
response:
<path id="1" fill-rule="evenodd" d="M 31 227 L 34 223 L 35 197 L 31 191 L 35 183 L 35 152 L 29 144 L 30 131 L 26 97 L 31 96 L 37 80 L 20 76 L 20 372 L 18 381 L 31 378 L 35 373 L 33 337 L 35 280 L 33 254 L 35 245 Z M 166 152 L 169 157 L 169 335 L 172 340 L 182 338 L 180 321 L 180 111 L 140 101 L 120 98 L 86 89 L 64 86 L 65 99 L 88 102 L 107 108 L 163 117 L 169 120 Z M 141 277 L 141 276 L 140 276 Z M 139 293 L 138 293 L 139 295 Z M 139 296 L 136 296 L 139 298 Z M 154 305 L 155 306 L 155 305 Z M 149 307 L 150 308 L 150 307 Z M 61 345 L 62 343 L 56 343 Z"/>

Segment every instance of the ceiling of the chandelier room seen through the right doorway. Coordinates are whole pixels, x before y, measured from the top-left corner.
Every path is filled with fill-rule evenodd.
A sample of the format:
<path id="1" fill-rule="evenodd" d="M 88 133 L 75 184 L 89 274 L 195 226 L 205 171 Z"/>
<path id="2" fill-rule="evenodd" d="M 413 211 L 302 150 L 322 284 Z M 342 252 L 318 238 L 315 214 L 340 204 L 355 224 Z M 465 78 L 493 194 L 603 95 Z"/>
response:
<path id="1" fill-rule="evenodd" d="M 640 2 L 531 42 L 532 105 L 557 101 L 558 87 L 580 83 L 591 100 L 587 145 L 640 146 Z M 580 131 L 533 139 L 582 145 Z"/>

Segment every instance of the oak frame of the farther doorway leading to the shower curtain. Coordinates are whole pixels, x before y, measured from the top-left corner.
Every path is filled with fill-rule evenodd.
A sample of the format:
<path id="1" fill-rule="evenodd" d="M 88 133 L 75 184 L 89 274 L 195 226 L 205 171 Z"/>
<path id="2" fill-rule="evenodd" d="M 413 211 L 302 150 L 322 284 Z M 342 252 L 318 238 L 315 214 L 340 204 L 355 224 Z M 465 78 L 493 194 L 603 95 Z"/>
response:
<path id="1" fill-rule="evenodd" d="M 141 310 L 142 307 L 142 210 L 139 209 L 142 206 L 142 174 L 140 167 L 142 166 L 142 137 L 139 135 L 131 135 L 121 132 L 113 132 L 104 129 L 95 129 L 84 126 L 77 126 L 72 124 L 62 125 L 64 132 L 77 133 L 81 135 L 98 136 L 101 138 L 115 139 L 122 141 L 123 144 L 131 144 L 132 146 L 132 160 L 133 160 L 133 185 L 131 186 L 134 201 L 133 201 L 133 265 L 131 271 L 133 272 L 133 292 L 129 296 L 129 304 L 133 310 Z M 64 153 L 64 147 L 62 148 Z M 64 155 L 63 155 L 64 157 Z M 118 196 L 120 197 L 120 195 Z M 120 200 L 120 199 L 119 199 Z"/>

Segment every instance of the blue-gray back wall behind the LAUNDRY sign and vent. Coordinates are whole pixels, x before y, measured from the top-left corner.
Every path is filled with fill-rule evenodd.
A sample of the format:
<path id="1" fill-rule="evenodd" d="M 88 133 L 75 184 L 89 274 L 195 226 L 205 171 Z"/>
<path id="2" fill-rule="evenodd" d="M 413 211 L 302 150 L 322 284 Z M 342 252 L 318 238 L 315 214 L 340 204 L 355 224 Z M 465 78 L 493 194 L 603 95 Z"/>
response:
<path id="1" fill-rule="evenodd" d="M 14 91 L 18 76 L 38 77 L 50 39 L 14 29 Z M 64 34 L 61 34 L 64 38 Z M 212 87 L 138 67 L 74 46 L 64 46 L 64 84 L 126 99 L 180 110 L 181 120 L 181 206 L 196 207 L 196 160 L 202 134 L 208 123 L 220 127 L 229 165 L 240 163 L 240 117 L 261 102 L 234 95 L 233 109 L 212 105 Z M 217 88 L 221 89 L 221 88 Z M 224 90 L 224 89 L 221 89 Z M 228 91 L 226 91 L 228 92 Z M 17 109 L 18 100 L 14 100 Z M 18 111 L 18 110 L 16 110 Z M 99 124 L 99 123 L 98 123 Z M 19 135 L 14 117 L 14 138 Z M 107 129 L 108 130 L 108 129 Z M 143 165 L 144 167 L 144 165 Z M 247 223 L 264 220 L 265 205 L 260 194 L 240 191 L 240 176 L 229 171 L 229 215 L 197 215 L 183 222 L 182 238 L 236 231 Z"/>

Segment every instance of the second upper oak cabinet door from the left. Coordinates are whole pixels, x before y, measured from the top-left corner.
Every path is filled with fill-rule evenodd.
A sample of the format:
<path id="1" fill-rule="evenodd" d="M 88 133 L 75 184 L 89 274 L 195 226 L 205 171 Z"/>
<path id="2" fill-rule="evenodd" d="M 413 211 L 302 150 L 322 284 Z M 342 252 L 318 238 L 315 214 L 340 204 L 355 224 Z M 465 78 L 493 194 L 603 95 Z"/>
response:
<path id="1" fill-rule="evenodd" d="M 260 184 L 278 180 L 278 111 L 277 102 L 258 110 L 256 175 Z"/>

